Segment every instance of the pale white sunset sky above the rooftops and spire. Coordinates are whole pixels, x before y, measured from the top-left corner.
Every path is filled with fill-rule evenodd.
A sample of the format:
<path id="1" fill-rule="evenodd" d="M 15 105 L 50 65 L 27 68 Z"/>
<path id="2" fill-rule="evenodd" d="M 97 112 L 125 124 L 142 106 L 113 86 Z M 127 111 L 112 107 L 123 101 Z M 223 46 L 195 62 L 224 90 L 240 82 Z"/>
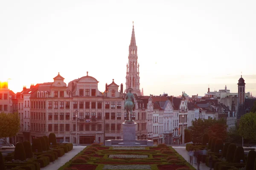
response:
<path id="1" fill-rule="evenodd" d="M 132 22 L 144 95 L 256 96 L 255 0 L 0 0 L 0 81 L 9 89 L 88 75 L 125 84 Z"/>

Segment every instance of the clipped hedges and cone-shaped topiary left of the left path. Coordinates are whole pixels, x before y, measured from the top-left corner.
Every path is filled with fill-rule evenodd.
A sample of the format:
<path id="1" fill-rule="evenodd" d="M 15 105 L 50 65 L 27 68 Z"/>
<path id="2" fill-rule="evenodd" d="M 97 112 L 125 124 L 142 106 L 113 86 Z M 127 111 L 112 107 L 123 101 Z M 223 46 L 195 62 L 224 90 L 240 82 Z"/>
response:
<path id="1" fill-rule="evenodd" d="M 73 144 L 56 143 L 54 133 L 33 139 L 32 144 L 25 141 L 18 142 L 15 150 L 3 156 L 0 152 L 0 170 L 40 170 L 50 162 L 59 159 L 73 149 Z"/>

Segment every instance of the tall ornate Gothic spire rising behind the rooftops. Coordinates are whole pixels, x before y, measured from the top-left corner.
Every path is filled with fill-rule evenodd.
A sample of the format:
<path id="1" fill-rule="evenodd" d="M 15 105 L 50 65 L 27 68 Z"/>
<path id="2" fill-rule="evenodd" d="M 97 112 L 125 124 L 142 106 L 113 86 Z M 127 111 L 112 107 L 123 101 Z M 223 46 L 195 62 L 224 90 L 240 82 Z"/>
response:
<path id="1" fill-rule="evenodd" d="M 129 45 L 128 63 L 126 65 L 126 90 L 132 88 L 133 94 L 141 96 L 140 93 L 140 64 L 138 63 L 137 45 L 135 40 L 134 26 L 132 26 L 131 43 Z M 127 91 L 126 91 L 127 92 Z"/>

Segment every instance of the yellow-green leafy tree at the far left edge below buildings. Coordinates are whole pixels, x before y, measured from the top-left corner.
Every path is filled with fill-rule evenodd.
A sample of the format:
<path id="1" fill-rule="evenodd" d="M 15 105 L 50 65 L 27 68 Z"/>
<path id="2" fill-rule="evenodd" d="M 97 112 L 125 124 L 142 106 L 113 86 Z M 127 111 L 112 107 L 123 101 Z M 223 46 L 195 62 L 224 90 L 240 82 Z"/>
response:
<path id="1" fill-rule="evenodd" d="M 15 136 L 20 130 L 18 113 L 0 113 L 0 137 Z"/>

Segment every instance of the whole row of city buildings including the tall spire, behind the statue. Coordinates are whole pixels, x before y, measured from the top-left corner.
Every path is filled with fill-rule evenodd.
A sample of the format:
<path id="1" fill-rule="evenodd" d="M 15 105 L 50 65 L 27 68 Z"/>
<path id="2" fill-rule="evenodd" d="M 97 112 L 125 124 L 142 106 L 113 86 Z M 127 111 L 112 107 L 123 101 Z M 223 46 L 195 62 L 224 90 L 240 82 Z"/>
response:
<path id="1" fill-rule="evenodd" d="M 179 97 L 144 96 L 140 91 L 140 71 L 134 26 L 126 65 L 126 83 L 117 85 L 114 79 L 98 90 L 96 78 L 85 75 L 68 85 L 59 73 L 53 82 L 23 87 L 18 93 L 0 83 L 0 111 L 19 113 L 20 132 L 9 139 L 10 143 L 22 142 L 54 132 L 58 142 L 90 144 L 108 139 L 122 139 L 125 94 L 131 89 L 135 110 L 131 118 L 137 122 L 136 138 L 151 139 L 155 143 L 180 144 L 183 130 L 195 119 L 221 119 L 233 128 L 242 111 L 248 110 L 244 79 L 238 83 L 238 92 L 224 90 L 211 92 L 204 97 L 189 97 L 185 92 Z M 245 109 L 246 108 L 246 109 Z M 240 109 L 240 110 L 239 110 Z"/>

